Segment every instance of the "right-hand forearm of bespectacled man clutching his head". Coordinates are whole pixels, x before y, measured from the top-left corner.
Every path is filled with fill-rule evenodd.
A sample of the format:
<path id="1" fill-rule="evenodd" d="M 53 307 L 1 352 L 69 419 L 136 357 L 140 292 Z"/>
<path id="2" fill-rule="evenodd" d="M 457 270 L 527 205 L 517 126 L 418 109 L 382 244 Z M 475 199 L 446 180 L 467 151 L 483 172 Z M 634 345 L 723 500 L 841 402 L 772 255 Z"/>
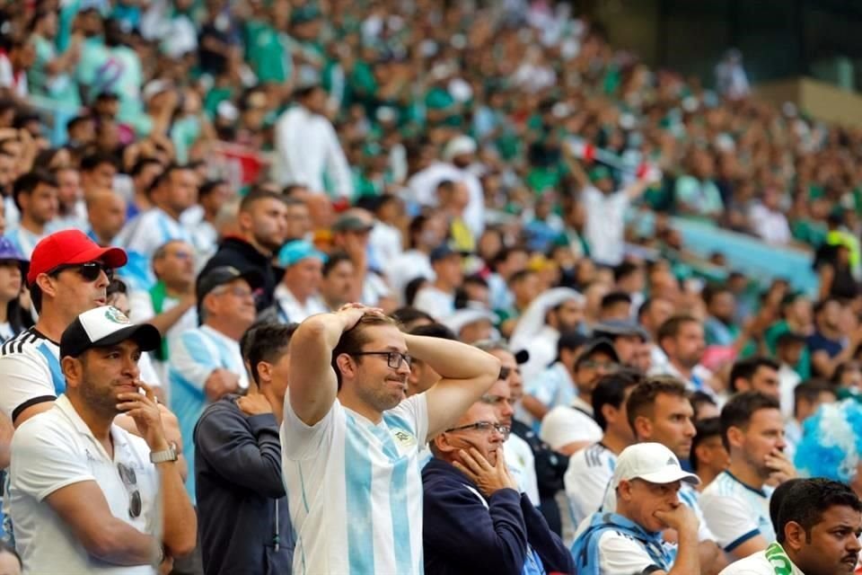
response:
<path id="1" fill-rule="evenodd" d="M 497 358 L 460 341 L 410 334 L 404 337 L 410 355 L 427 363 L 444 379 L 472 379 L 499 370 Z"/>

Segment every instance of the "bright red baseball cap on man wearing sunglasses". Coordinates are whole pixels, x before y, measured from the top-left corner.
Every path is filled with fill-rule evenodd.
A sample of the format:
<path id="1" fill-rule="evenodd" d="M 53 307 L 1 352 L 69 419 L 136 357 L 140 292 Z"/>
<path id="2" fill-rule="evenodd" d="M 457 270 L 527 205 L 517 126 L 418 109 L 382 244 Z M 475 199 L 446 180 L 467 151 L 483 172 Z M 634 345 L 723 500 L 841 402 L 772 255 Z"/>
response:
<path id="1" fill-rule="evenodd" d="M 88 261 L 102 261 L 110 268 L 126 265 L 128 256 L 121 248 L 103 248 L 80 230 L 63 230 L 40 240 L 30 258 L 27 283 L 32 285 L 40 273 L 59 266 Z"/>

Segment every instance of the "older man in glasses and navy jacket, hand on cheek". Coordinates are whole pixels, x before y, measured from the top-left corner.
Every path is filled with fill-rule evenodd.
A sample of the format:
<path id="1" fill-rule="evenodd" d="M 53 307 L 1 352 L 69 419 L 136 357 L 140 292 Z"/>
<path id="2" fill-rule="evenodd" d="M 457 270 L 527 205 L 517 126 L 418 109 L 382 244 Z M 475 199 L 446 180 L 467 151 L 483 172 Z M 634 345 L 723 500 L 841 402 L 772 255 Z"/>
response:
<path id="1" fill-rule="evenodd" d="M 571 553 L 508 471 L 508 433 L 494 406 L 479 402 L 432 441 L 434 458 L 422 470 L 429 575 L 575 572 Z"/>

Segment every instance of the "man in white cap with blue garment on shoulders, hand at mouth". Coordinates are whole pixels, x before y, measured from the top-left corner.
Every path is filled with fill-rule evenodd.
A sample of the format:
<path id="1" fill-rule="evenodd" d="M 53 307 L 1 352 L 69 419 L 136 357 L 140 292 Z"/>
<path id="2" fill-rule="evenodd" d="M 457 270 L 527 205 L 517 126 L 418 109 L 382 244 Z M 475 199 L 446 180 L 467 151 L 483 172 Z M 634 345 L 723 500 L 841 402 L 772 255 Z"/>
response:
<path id="1" fill-rule="evenodd" d="M 698 518 L 677 496 L 682 482 L 699 481 L 661 444 L 626 447 L 611 478 L 617 511 L 590 516 L 572 545 L 578 575 L 699 573 Z M 678 544 L 664 541 L 668 528 Z"/>

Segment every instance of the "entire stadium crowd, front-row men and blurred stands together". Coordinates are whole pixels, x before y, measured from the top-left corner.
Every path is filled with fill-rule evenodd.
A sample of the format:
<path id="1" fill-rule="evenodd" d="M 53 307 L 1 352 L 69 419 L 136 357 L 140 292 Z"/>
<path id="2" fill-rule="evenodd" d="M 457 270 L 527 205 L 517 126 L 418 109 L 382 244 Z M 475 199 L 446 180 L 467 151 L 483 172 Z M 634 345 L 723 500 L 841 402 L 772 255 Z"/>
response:
<path id="1" fill-rule="evenodd" d="M 791 526 L 816 517 L 770 500 L 797 475 L 862 493 L 862 130 L 758 102 L 737 52 L 713 90 L 571 10 L 5 4 L 0 565 L 844 572 Z M 810 253 L 817 292 L 696 255 L 674 217 Z M 96 308 L 161 334 L 123 332 L 146 399 L 116 419 L 87 392 L 113 368 L 93 368 Z M 365 321 L 385 351 L 348 336 Z M 397 410 L 354 391 L 362 355 L 397 374 Z M 128 460 L 92 471 L 120 440 Z M 367 470 L 333 476 L 339 449 Z"/>

